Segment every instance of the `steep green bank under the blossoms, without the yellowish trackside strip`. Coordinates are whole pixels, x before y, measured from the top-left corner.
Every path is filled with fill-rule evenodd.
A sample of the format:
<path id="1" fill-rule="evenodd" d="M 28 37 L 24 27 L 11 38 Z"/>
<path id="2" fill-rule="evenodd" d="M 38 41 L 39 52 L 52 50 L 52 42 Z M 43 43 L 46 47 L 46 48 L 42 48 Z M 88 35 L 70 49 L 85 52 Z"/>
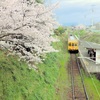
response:
<path id="1" fill-rule="evenodd" d="M 19 62 L 18 57 L 6 54 L 7 51 L 0 51 L 0 100 L 53 99 L 58 73 L 54 64 L 56 53 L 47 55 L 38 72 L 29 69 L 25 62 Z"/>

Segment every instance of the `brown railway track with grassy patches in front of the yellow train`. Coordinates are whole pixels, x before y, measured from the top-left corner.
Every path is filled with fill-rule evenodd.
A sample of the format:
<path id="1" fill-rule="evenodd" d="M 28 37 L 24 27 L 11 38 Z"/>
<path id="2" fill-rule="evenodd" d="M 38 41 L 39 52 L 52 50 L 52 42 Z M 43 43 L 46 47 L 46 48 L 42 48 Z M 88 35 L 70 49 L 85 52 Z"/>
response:
<path id="1" fill-rule="evenodd" d="M 70 57 L 72 100 L 89 100 L 77 56 L 70 54 Z"/>

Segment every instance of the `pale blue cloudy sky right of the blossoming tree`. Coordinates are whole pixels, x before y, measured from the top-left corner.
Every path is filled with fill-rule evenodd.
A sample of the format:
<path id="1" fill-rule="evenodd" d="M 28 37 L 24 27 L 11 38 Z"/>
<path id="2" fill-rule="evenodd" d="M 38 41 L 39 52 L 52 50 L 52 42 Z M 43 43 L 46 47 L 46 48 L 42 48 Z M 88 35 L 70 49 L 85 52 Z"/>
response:
<path id="1" fill-rule="evenodd" d="M 46 0 L 46 2 L 49 5 L 59 2 L 59 7 L 53 12 L 61 25 L 92 25 L 100 22 L 100 0 Z"/>

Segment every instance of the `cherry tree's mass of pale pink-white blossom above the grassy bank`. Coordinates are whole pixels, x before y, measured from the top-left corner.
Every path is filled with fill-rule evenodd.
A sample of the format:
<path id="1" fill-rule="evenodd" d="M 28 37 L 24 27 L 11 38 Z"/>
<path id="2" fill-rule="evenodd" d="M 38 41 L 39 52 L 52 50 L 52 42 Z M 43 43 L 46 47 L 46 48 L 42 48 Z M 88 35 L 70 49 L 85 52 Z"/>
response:
<path id="1" fill-rule="evenodd" d="M 41 55 L 57 51 L 50 46 L 55 41 L 51 31 L 57 25 L 50 9 L 35 0 L 13 0 L 10 6 L 0 6 L 1 47 L 36 68 Z"/>

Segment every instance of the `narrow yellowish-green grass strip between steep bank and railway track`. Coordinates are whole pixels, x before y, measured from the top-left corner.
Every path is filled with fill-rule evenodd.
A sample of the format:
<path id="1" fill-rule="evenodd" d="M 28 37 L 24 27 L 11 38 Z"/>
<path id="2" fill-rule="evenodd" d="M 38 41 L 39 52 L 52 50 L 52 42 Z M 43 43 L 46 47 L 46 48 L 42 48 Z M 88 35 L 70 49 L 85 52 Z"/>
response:
<path id="1" fill-rule="evenodd" d="M 57 65 L 59 67 L 59 75 L 56 82 L 56 95 L 55 100 L 66 100 L 67 99 L 67 90 L 69 87 L 68 82 L 68 73 L 67 73 L 67 64 L 69 60 L 69 54 L 67 52 L 67 35 L 63 34 L 60 36 L 62 43 L 60 42 L 60 47 L 56 44 L 56 48 L 60 49 L 59 59 Z"/>

